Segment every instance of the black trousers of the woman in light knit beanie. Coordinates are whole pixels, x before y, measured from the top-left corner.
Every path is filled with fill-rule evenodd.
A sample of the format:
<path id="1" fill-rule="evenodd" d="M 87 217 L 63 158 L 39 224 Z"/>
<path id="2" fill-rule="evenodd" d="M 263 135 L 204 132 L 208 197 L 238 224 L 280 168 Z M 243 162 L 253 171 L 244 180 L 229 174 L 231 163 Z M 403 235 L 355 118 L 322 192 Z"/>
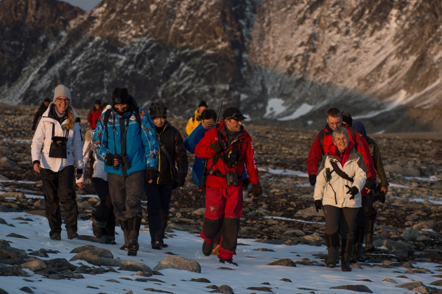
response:
<path id="1" fill-rule="evenodd" d="M 74 166 L 68 165 L 58 172 L 42 168 L 40 176 L 45 190 L 45 214 L 51 228 L 49 235 L 61 232 L 60 203 L 63 206 L 66 231 L 77 232 L 78 206 L 74 190 Z"/>

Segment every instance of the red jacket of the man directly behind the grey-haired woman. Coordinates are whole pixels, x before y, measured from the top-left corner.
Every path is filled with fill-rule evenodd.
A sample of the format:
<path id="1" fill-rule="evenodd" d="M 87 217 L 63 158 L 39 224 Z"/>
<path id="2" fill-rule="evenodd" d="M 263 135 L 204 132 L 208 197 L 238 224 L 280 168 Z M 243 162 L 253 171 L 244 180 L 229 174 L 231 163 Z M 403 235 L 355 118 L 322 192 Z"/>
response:
<path id="1" fill-rule="evenodd" d="M 367 141 L 365 139 L 362 140 L 363 138 L 357 132 L 355 132 L 356 134 L 356 142 L 355 142 L 355 139 L 353 138 L 350 128 L 346 124 L 342 124 L 342 126 L 347 129 L 350 141 L 352 141 L 353 144 L 355 144 L 356 151 L 362 154 L 362 157 L 364 158 L 365 166 L 367 167 L 368 171 L 367 178 L 372 177 L 373 182 L 376 182 L 376 171 L 374 169 L 373 159 L 371 158 Z M 327 125 L 320 132 L 324 132 L 323 149 L 325 155 L 330 151 L 329 149 L 330 146 L 334 146 L 333 139 L 331 137 L 330 130 L 327 128 Z M 321 152 L 321 146 L 319 143 L 319 133 L 318 133 L 316 134 L 313 143 L 311 143 L 310 151 L 308 152 L 307 156 L 307 173 L 309 175 L 316 175 L 318 173 L 319 163 L 321 162 L 324 155 Z"/>

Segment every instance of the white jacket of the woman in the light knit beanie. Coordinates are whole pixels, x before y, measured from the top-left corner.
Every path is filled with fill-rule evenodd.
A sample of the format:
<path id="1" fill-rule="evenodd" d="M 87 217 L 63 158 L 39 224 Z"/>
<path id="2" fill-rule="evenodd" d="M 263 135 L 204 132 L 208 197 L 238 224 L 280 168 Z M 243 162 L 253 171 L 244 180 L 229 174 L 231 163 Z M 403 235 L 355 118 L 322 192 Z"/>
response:
<path id="1" fill-rule="evenodd" d="M 75 158 L 75 166 L 77 168 L 83 168 L 83 135 L 80 122 L 74 124 L 73 130 L 63 130 L 57 120 L 48 117 L 52 107 L 55 107 L 54 103 L 51 103 L 45 113 L 43 113 L 37 129 L 35 130 L 34 137 L 32 138 L 32 162 L 38 160 L 40 161 L 41 168 L 47 168 L 54 172 L 59 172 L 68 165 L 74 165 Z M 78 118 L 79 116 L 74 108 L 72 108 L 72 110 L 74 111 L 75 117 Z M 62 125 L 65 125 L 66 122 L 67 121 L 65 120 Z M 55 126 L 55 136 L 65 136 L 66 132 L 69 132 L 66 143 L 67 155 L 65 159 L 49 157 L 53 124 Z M 81 181 L 77 180 L 77 183 L 78 182 Z"/>

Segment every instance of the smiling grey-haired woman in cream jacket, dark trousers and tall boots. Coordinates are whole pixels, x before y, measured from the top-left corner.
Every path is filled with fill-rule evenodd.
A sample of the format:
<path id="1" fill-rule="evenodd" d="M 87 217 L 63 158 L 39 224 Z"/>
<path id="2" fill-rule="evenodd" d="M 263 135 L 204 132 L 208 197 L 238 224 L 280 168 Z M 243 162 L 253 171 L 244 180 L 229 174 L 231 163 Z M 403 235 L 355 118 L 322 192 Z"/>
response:
<path id="1" fill-rule="evenodd" d="M 342 242 L 341 269 L 351 271 L 353 227 L 361 207 L 360 190 L 367 179 L 362 155 L 354 148 L 345 128 L 332 133 L 333 145 L 318 169 L 314 192 L 315 208 L 324 209 L 327 267 L 336 266 L 339 235 Z M 339 232 L 338 232 L 339 230 Z"/>

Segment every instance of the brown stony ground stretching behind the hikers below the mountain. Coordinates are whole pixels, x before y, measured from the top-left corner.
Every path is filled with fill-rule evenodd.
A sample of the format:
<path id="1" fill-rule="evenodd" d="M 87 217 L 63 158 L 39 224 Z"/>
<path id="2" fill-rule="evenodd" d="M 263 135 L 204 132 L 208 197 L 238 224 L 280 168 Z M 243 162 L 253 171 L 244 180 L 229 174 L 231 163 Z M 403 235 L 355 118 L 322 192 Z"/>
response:
<path id="1" fill-rule="evenodd" d="M 39 175 L 33 172 L 30 143 L 31 122 L 36 107 L 0 105 L 0 212 L 27 211 L 44 215 L 44 201 L 24 194 L 43 195 Z M 85 122 L 87 110 L 79 110 Z M 185 134 L 185 120 L 171 119 Z M 83 124 L 84 129 L 85 124 Z M 264 194 L 245 198 L 241 238 L 287 245 L 318 245 L 323 239 L 324 218 L 313 207 L 313 187 L 305 177 L 305 161 L 312 131 L 246 125 L 254 140 Z M 392 261 L 441 263 L 442 252 L 442 139 L 408 135 L 373 135 L 382 152 L 391 185 L 385 204 L 376 203 L 378 217 L 374 244 L 377 258 Z M 193 156 L 190 155 L 190 162 Z M 279 169 L 284 172 L 275 172 Z M 304 173 L 290 174 L 290 171 Z M 269 172 L 270 171 L 270 172 Z M 199 231 L 204 199 L 188 175 L 185 187 L 174 190 L 170 228 Z M 29 183 L 30 182 L 30 183 Z M 36 182 L 36 183 L 33 183 Z M 94 194 L 90 182 L 78 194 Z M 12 199 L 11 199 L 12 198 Z M 88 219 L 96 198 L 77 198 L 80 217 Z M 91 232 L 92 234 L 92 232 Z M 387 254 L 387 255 L 385 255 Z"/>

